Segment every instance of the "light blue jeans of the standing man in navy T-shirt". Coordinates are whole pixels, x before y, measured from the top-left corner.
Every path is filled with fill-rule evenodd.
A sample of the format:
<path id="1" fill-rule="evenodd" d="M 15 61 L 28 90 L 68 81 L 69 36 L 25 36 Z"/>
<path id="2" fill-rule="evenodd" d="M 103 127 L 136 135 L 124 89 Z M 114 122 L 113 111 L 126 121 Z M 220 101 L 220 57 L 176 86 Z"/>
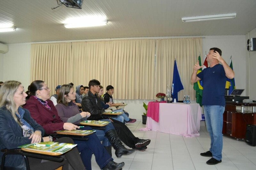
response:
<path id="1" fill-rule="evenodd" d="M 225 106 L 217 105 L 204 105 L 204 116 L 207 131 L 211 137 L 212 158 L 221 160 L 222 158 L 222 126 L 223 126 L 223 113 Z"/>

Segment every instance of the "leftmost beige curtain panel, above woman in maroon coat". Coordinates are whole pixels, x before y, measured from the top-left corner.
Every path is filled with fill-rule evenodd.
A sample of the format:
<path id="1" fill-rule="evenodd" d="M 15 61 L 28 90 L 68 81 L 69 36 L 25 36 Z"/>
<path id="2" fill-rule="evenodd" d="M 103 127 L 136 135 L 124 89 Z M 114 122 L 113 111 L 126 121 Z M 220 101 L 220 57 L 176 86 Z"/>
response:
<path id="1" fill-rule="evenodd" d="M 43 80 L 55 94 L 57 85 L 72 81 L 71 43 L 32 44 L 30 81 Z"/>

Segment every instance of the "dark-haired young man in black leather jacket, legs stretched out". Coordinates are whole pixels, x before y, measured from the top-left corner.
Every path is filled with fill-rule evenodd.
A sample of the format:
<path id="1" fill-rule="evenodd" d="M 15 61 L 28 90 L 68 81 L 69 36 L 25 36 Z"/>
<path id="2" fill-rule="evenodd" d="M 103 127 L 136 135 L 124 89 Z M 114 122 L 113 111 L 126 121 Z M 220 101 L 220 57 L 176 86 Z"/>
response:
<path id="1" fill-rule="evenodd" d="M 100 81 L 89 81 L 89 92 L 82 99 L 82 108 L 84 111 L 90 112 L 91 116 L 87 120 L 101 120 L 103 119 L 102 113 L 104 109 L 101 106 L 100 98 L 96 93 L 100 92 Z M 118 137 L 124 142 L 125 145 L 131 148 L 135 148 L 139 151 L 145 151 L 147 145 L 150 143 L 150 139 L 140 139 L 135 137 L 130 129 L 123 123 L 110 119 L 112 122 Z"/>

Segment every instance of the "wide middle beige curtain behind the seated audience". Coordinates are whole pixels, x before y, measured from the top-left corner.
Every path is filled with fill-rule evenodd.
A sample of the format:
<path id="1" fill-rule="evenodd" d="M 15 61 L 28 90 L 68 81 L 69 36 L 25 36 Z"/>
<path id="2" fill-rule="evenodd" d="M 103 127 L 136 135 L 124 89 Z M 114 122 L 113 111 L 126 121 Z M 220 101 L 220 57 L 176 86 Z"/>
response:
<path id="1" fill-rule="evenodd" d="M 72 43 L 74 84 L 97 79 L 115 89 L 118 99 L 152 99 L 155 40 L 109 40 Z"/>

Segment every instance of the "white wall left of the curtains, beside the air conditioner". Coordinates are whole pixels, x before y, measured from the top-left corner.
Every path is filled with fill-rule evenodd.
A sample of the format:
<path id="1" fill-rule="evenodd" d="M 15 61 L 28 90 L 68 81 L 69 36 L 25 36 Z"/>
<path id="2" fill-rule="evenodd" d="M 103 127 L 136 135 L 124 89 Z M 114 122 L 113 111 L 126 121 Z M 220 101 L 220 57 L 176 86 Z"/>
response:
<path id="1" fill-rule="evenodd" d="M 8 45 L 8 53 L 0 56 L 3 58 L 1 81 L 20 81 L 27 91 L 30 84 L 30 46 L 28 43 Z"/>

